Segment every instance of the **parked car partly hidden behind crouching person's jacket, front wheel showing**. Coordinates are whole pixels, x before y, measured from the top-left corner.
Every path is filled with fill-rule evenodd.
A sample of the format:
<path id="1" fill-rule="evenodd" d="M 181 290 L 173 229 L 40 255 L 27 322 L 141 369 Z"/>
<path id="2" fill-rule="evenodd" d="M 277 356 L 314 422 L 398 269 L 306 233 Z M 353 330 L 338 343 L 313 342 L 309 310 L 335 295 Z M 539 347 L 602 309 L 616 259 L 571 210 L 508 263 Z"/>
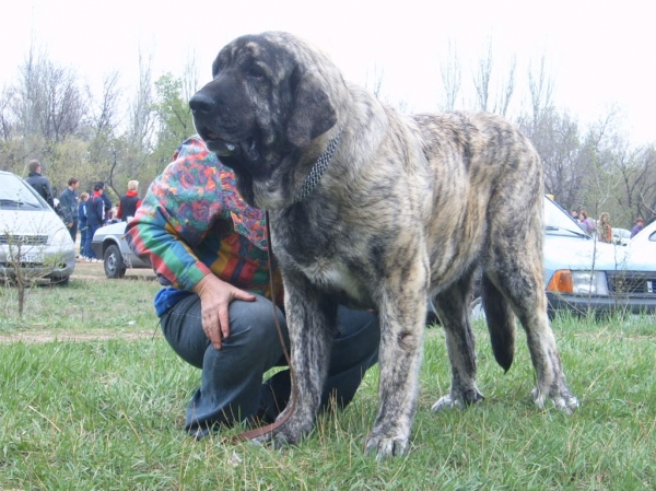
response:
<path id="1" fill-rule="evenodd" d="M 122 278 L 128 268 L 150 268 L 150 261 L 137 256 L 126 242 L 127 222 L 115 222 L 101 226 L 91 242 L 94 254 L 103 258 L 107 278 Z"/>

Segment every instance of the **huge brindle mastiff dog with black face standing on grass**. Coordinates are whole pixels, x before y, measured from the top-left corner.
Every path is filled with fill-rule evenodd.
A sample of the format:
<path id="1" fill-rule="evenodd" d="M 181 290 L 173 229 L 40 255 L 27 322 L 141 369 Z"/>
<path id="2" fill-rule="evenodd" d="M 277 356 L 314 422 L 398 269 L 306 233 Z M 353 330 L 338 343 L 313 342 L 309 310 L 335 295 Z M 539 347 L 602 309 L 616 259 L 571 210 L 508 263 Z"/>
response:
<path id="1" fill-rule="evenodd" d="M 235 39 L 212 70 L 190 101 L 196 128 L 235 171 L 244 199 L 270 211 L 283 273 L 296 390 L 278 443 L 313 426 L 338 303 L 380 319 L 368 452 L 407 449 L 430 300 L 452 365 L 450 391 L 433 409 L 481 400 L 468 318 L 477 268 L 497 362 L 512 364 L 516 315 L 535 401 L 577 407 L 547 317 L 542 168 L 525 136 L 490 114 L 400 115 L 285 33 Z"/>

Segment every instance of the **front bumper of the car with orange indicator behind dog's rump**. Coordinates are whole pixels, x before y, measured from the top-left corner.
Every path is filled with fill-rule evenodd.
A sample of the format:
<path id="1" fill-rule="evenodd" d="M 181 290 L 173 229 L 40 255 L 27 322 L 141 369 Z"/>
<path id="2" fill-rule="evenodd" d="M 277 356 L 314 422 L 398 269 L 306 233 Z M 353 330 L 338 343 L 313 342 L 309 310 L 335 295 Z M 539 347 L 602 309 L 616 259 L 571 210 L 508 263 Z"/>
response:
<path id="1" fill-rule="evenodd" d="M 640 295 L 631 297 L 612 296 L 577 296 L 567 294 L 554 294 L 547 292 L 548 311 L 550 317 L 557 312 L 571 312 L 577 315 L 611 314 L 614 312 L 626 312 L 630 314 L 654 314 L 656 313 L 656 294 Z"/>

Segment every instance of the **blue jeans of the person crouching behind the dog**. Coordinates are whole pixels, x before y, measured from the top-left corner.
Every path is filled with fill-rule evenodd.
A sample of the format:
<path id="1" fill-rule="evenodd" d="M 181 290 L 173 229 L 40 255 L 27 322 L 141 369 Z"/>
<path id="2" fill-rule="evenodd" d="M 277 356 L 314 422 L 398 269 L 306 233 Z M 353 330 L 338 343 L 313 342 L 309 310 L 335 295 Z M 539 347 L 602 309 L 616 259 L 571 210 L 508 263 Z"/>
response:
<path id="1" fill-rule="evenodd" d="M 277 312 L 286 337 L 284 316 Z M 214 349 L 202 330 L 198 295 L 175 304 L 162 316 L 161 326 L 174 351 L 202 369 L 201 386 L 187 409 L 189 434 L 200 439 L 218 425 L 237 421 L 271 422 L 284 409 L 291 393 L 289 370 L 262 383 L 269 369 L 286 365 L 269 300 L 257 296 L 255 302 L 231 303 L 230 337 L 221 350 Z M 353 399 L 365 372 L 377 362 L 379 340 L 375 314 L 339 307 L 324 408 L 330 396 L 338 407 Z"/>

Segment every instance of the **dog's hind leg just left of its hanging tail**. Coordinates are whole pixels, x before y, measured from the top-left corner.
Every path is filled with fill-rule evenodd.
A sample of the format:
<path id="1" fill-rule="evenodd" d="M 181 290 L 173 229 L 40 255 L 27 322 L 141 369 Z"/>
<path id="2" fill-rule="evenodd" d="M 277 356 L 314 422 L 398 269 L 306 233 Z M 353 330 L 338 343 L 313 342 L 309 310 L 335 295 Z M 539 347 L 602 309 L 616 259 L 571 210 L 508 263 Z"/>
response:
<path id="1" fill-rule="evenodd" d="M 433 411 L 465 407 L 483 399 L 476 386 L 476 343 L 469 322 L 473 270 L 437 294 L 434 301 L 444 327 L 446 349 L 452 365 L 449 394 L 433 405 Z"/>

